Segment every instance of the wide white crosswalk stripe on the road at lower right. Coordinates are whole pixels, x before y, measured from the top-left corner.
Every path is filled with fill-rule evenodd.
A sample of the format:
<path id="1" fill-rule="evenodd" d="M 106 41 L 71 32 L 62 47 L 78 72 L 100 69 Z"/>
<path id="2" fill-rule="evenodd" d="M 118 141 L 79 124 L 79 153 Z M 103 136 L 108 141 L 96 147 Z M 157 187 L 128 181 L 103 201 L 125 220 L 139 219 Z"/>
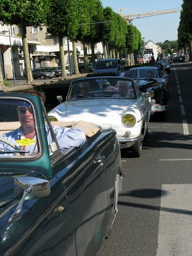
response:
<path id="1" fill-rule="evenodd" d="M 156 256 L 192 255 L 192 184 L 163 184 Z"/>

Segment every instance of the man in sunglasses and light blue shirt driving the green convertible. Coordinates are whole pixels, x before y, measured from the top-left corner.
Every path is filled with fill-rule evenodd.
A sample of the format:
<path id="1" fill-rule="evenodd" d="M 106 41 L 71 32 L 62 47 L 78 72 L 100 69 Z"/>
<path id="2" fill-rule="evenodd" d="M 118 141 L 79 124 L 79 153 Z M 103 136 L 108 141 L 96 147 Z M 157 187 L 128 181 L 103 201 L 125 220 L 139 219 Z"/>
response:
<path id="1" fill-rule="evenodd" d="M 28 91 L 27 93 L 36 95 L 42 99 L 43 103 L 45 102 L 44 93 L 35 90 Z M 28 151 L 29 155 L 38 152 L 35 122 L 31 105 L 22 100 L 22 104 L 17 107 L 17 113 L 20 127 L 1 136 L 6 143 L 0 142 L 0 150 L 13 150 L 13 147 L 7 143 L 7 141 L 10 141 L 12 145 L 19 144 L 20 150 Z M 54 142 L 54 139 L 47 124 L 45 124 L 45 130 L 47 131 L 47 142 L 50 146 Z M 84 132 L 80 129 L 52 125 L 52 130 L 54 131 L 61 152 L 65 152 L 68 148 L 79 147 L 86 141 Z"/>

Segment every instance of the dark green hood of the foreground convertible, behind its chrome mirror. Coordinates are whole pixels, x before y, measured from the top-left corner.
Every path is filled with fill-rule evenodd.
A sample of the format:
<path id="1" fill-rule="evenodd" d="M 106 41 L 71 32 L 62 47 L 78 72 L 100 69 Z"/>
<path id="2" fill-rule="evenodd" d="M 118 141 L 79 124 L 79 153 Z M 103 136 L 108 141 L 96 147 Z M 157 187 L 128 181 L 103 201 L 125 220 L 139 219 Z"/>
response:
<path id="1" fill-rule="evenodd" d="M 45 179 L 45 177 L 38 172 L 15 170 L 15 168 L 14 170 L 12 170 L 11 168 L 9 170 L 0 169 L 0 173 L 0 216 L 1 211 L 3 211 L 4 207 L 6 207 L 7 204 L 10 204 L 10 202 L 16 199 L 14 190 L 15 177 L 33 176 Z"/>

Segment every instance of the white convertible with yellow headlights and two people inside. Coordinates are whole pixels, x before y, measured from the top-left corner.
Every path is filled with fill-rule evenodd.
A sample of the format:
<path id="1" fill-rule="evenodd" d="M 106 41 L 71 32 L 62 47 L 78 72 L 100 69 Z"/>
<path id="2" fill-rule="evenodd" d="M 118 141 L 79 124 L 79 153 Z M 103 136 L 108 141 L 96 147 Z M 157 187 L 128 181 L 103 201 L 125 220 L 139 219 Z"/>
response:
<path id="1" fill-rule="evenodd" d="M 86 77 L 72 81 L 66 101 L 48 115 L 51 121 L 83 120 L 111 127 L 120 148 L 129 148 L 134 157 L 140 157 L 150 113 L 150 95 L 141 93 L 132 79 Z"/>

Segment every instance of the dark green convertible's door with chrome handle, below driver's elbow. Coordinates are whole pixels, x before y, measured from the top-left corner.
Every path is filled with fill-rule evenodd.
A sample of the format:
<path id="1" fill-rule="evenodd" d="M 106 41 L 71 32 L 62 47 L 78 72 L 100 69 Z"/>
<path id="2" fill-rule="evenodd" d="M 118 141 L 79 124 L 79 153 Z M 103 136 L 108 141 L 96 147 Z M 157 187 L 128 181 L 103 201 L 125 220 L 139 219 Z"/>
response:
<path id="1" fill-rule="evenodd" d="M 111 136 L 87 141 L 53 165 L 53 172 L 65 186 L 78 256 L 96 255 L 112 218 L 117 164 L 112 167 L 111 162 L 118 159 L 112 156 Z M 114 131 L 113 137 L 116 138 Z"/>

